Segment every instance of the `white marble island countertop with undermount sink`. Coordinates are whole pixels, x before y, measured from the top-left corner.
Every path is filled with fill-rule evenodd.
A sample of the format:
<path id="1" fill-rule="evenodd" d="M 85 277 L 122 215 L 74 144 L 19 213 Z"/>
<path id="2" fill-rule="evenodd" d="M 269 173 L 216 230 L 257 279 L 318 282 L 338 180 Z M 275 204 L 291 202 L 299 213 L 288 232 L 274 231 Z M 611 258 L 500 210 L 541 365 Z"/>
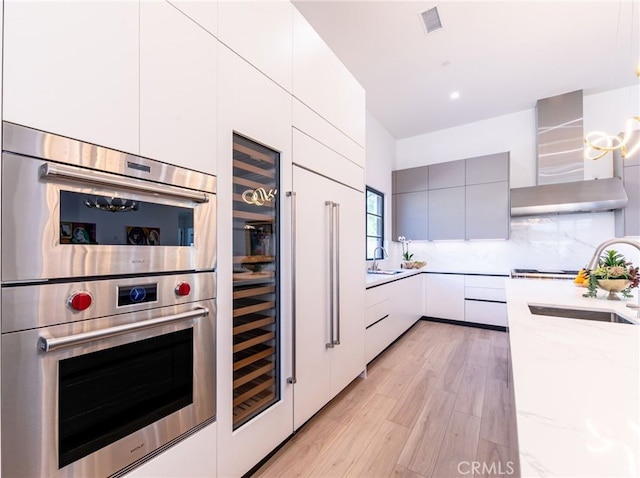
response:
<path id="1" fill-rule="evenodd" d="M 571 281 L 508 279 L 523 477 L 640 476 L 640 325 L 532 315 L 528 304 L 615 311 Z M 637 292 L 637 289 L 634 289 Z"/>

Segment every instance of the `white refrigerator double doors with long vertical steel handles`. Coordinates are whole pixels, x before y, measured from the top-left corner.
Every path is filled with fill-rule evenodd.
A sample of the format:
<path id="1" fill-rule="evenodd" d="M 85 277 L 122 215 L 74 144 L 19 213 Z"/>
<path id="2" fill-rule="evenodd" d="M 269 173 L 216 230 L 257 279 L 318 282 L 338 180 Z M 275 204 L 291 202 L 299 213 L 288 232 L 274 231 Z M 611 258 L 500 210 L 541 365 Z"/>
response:
<path id="1" fill-rule="evenodd" d="M 364 194 L 297 166 L 293 190 L 298 428 L 365 369 Z"/>

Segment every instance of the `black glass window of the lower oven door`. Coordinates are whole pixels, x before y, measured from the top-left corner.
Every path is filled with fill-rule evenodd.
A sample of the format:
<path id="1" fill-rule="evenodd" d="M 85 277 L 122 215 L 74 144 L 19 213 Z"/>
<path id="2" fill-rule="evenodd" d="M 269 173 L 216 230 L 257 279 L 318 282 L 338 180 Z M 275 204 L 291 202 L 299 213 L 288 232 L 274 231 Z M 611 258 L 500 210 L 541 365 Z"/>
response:
<path id="1" fill-rule="evenodd" d="M 192 328 L 61 360 L 58 467 L 192 403 Z"/>

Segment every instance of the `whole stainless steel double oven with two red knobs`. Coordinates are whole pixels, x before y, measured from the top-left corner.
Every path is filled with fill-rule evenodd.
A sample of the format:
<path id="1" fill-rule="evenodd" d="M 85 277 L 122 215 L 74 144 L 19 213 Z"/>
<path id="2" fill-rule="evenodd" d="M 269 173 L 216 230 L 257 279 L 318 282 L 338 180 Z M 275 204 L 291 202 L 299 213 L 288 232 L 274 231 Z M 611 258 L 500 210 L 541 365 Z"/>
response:
<path id="1" fill-rule="evenodd" d="M 2 476 L 122 474 L 215 420 L 216 178 L 3 124 Z"/>

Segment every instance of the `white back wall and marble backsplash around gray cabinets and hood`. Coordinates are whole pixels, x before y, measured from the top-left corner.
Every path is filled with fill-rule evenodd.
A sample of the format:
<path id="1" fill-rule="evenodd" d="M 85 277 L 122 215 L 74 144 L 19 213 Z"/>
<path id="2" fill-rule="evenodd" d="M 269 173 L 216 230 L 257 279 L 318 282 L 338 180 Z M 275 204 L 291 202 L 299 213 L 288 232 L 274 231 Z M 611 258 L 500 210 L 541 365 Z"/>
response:
<path id="1" fill-rule="evenodd" d="M 626 118 L 640 113 L 639 98 L 638 86 L 585 96 L 585 132 L 622 131 Z M 510 151 L 511 187 L 531 186 L 535 184 L 535 133 L 535 109 L 530 109 L 399 140 L 394 169 Z M 369 151 L 367 155 L 368 160 Z M 612 174 L 611 154 L 598 161 L 585 160 L 585 179 Z M 387 217 L 389 223 L 391 220 Z M 612 212 L 536 216 L 512 219 L 511 238 L 506 241 L 421 241 L 413 242 L 410 250 L 432 270 L 580 269 L 594 248 L 614 234 Z M 390 267 L 397 267 L 400 246 L 395 243 L 390 249 Z M 634 263 L 640 262 L 634 249 L 616 249 Z"/>

